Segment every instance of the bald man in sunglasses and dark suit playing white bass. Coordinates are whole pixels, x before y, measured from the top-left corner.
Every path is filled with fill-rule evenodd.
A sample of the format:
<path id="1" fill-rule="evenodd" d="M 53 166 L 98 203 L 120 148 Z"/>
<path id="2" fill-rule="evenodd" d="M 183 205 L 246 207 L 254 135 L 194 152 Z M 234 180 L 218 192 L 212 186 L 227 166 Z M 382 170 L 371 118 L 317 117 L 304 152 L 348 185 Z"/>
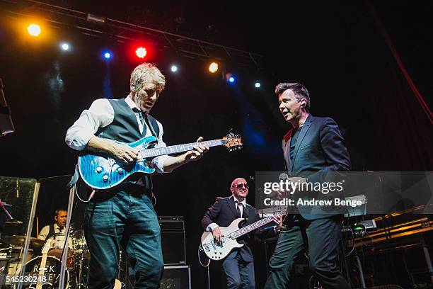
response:
<path id="1" fill-rule="evenodd" d="M 246 203 L 248 196 L 248 183 L 243 178 L 237 178 L 231 183 L 230 191 L 232 196 L 217 198 L 217 201 L 207 210 L 202 218 L 203 228 L 214 235 L 217 242 L 221 240 L 219 227 L 228 227 L 233 220 L 243 217 L 246 219 L 244 226 L 260 220 L 253 206 Z M 282 217 L 272 216 L 277 225 L 268 228 L 260 228 L 255 234 L 260 238 L 273 237 L 282 227 Z M 248 236 L 247 236 L 248 237 Z M 239 243 L 244 244 L 241 248 L 236 248 L 226 256 L 222 262 L 226 273 L 227 288 L 255 288 L 254 260 L 251 249 L 246 239 L 238 239 Z"/>

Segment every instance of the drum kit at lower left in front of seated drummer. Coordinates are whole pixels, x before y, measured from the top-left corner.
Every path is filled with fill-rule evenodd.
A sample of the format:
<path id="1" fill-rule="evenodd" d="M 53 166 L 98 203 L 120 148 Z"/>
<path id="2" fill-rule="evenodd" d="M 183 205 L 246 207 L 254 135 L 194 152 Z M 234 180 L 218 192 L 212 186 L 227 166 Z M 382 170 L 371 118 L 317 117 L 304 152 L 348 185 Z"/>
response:
<path id="1" fill-rule="evenodd" d="M 30 244 L 27 254 L 24 254 L 25 236 L 2 236 L 0 249 L 0 275 L 2 266 L 5 276 L 24 276 L 23 288 L 35 288 L 35 282 L 32 278 L 26 276 L 38 276 L 39 267 L 42 259 L 45 259 L 45 272 L 43 288 L 58 287 L 60 276 L 62 254 L 65 244 L 69 247 L 67 256 L 67 267 L 65 273 L 64 288 L 81 289 L 87 288 L 88 283 L 88 262 L 90 253 L 87 248 L 86 239 L 82 229 L 74 229 L 71 226 L 71 233 L 67 242 L 64 233 L 54 234 L 50 241 L 50 249 L 47 254 L 40 254 L 45 240 L 30 237 Z M 42 255 L 42 256 L 40 256 Z M 25 268 L 23 270 L 21 263 L 25 258 Z M 3 265 L 4 264 L 4 265 Z M 7 268 L 7 269 L 6 269 Z M 6 275 L 7 274 L 7 275 Z M 4 279 L 0 285 L 6 285 L 6 288 L 15 288 L 16 282 L 13 278 Z M 29 282 L 26 282 L 28 280 Z M 0 280 L 1 281 L 1 280 Z M 4 287 L 1 287 L 4 288 Z"/>

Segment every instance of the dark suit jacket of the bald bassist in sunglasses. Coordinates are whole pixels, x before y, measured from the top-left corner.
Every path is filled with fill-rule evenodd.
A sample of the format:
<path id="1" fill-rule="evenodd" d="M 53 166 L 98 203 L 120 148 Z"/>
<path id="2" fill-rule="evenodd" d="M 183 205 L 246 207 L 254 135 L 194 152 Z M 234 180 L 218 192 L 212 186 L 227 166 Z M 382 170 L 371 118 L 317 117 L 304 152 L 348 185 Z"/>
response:
<path id="1" fill-rule="evenodd" d="M 226 198 L 217 198 L 214 205 L 211 208 L 207 209 L 207 212 L 204 213 L 202 218 L 202 226 L 203 229 L 207 229 L 207 226 L 212 223 L 216 223 L 219 227 L 229 227 L 233 220 L 238 218 L 238 212 L 236 211 L 236 205 L 233 200 L 233 196 Z M 243 209 L 242 217 L 247 219 L 246 222 L 241 223 L 241 227 L 248 226 L 253 224 L 253 222 L 257 222 L 260 220 L 255 208 L 251 205 L 246 205 L 246 208 Z M 274 229 L 271 227 L 263 227 L 255 230 L 254 234 L 256 234 L 260 238 L 272 237 L 274 234 Z M 253 261 L 253 254 L 251 253 L 251 249 L 248 246 L 248 241 L 251 237 L 251 234 L 247 234 L 237 241 L 240 244 L 244 244 L 240 249 L 233 250 L 226 259 L 233 259 L 236 257 L 237 252 L 240 250 L 243 261 L 250 262 Z"/>

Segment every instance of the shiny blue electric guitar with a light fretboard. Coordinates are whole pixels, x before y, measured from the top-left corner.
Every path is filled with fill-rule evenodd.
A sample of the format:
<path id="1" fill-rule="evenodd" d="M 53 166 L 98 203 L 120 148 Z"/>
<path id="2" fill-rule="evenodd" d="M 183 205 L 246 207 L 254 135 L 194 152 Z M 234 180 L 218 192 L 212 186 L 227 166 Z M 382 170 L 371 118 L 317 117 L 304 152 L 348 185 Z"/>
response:
<path id="1" fill-rule="evenodd" d="M 115 159 L 107 154 L 97 152 L 83 152 L 79 156 L 78 167 L 81 179 L 93 189 L 103 190 L 113 188 L 125 181 L 129 176 L 136 173 L 153 174 L 155 169 L 151 168 L 147 162 L 153 157 L 162 156 L 163 154 L 178 154 L 192 150 L 197 142 L 184 145 L 171 145 L 169 147 L 155 147 L 148 149 L 149 146 L 156 143 L 156 137 L 144 137 L 137 142 L 122 143 L 139 150 L 138 161 L 134 164 L 124 166 L 118 164 Z M 220 140 L 207 140 L 200 142 L 202 145 L 217 147 L 224 145 L 229 150 L 240 149 L 242 147 L 241 136 L 232 133 Z"/>

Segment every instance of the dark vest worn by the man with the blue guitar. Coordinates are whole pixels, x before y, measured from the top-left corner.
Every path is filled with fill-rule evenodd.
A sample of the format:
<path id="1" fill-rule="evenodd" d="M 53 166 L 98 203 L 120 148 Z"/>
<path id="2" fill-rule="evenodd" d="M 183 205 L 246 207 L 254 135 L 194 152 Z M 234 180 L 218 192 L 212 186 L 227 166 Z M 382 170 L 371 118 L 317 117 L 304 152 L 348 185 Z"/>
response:
<path id="1" fill-rule="evenodd" d="M 134 111 L 132 111 L 126 103 L 125 98 L 108 99 L 108 101 L 114 110 L 114 120 L 112 120 L 112 123 L 107 125 L 105 128 L 100 128 L 98 132 L 96 132 L 96 136 L 110 140 L 117 140 L 118 142 L 135 142 L 146 135 L 146 126 L 144 126 L 143 133 L 141 134 L 137 123 L 137 117 L 135 116 Z M 156 119 L 151 117 L 151 115 L 147 115 L 147 118 L 149 120 L 147 125 L 151 125 L 156 134 L 155 136 L 158 138 L 159 126 L 158 123 L 156 123 Z M 132 176 L 128 181 L 137 181 L 139 177 L 141 176 L 136 174 L 135 177 Z M 143 183 L 146 189 L 152 189 L 152 179 L 150 175 L 143 176 Z"/>

